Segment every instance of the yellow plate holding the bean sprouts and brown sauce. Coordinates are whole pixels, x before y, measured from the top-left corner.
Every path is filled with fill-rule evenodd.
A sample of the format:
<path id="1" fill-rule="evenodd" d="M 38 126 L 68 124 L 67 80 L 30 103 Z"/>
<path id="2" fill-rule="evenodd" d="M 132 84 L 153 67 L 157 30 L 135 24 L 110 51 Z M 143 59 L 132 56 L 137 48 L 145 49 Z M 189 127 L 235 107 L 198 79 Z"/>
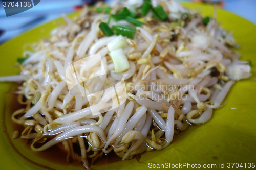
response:
<path id="1" fill-rule="evenodd" d="M 201 12 L 203 16 L 212 16 L 212 6 L 183 3 L 187 8 Z M 73 16 L 77 13 L 72 14 Z M 138 163 L 136 159 L 117 161 L 107 165 L 96 165 L 94 169 L 143 169 L 148 163 L 153 164 L 219 164 L 225 163 L 253 163 L 256 161 L 256 92 L 255 67 L 255 39 L 256 26 L 251 22 L 231 14 L 222 9 L 217 9 L 217 20 L 221 25 L 234 31 L 233 35 L 241 45 L 238 50 L 242 54 L 241 60 L 252 61 L 252 73 L 250 79 L 237 82 L 228 94 L 228 103 L 221 109 L 215 110 L 211 120 L 202 126 L 190 126 L 186 131 L 177 135 L 168 148 L 162 151 L 147 152 L 142 154 Z M 19 69 L 12 67 L 17 58 L 22 55 L 25 44 L 37 42 L 49 37 L 50 31 L 57 27 L 62 19 L 46 23 L 30 30 L 0 46 L 1 62 L 0 76 L 18 74 Z M 56 163 L 51 161 L 57 157 L 53 150 L 48 159 L 42 159 L 44 152 L 35 153 L 29 145 L 20 142 L 20 139 L 12 139 L 13 128 L 11 124 L 11 90 L 10 83 L 0 83 L 0 165 L 1 169 L 83 169 L 79 163 Z M 13 105 L 12 105 L 13 106 Z M 109 160 L 111 161 L 111 159 Z M 243 166 L 245 166 L 243 164 Z M 241 168 L 241 167 L 240 167 Z"/>

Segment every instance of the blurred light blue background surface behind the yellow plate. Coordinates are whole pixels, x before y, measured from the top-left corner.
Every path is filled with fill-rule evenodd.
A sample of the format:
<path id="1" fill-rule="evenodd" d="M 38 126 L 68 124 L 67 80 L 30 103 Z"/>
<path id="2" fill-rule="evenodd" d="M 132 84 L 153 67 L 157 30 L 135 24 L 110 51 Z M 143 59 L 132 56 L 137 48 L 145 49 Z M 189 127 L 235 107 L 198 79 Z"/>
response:
<path id="1" fill-rule="evenodd" d="M 105 1 L 110 2 L 111 0 Z M 197 2 L 218 4 L 221 8 L 237 14 L 256 24 L 256 0 L 176 0 L 179 2 Z M 0 44 L 17 35 L 56 19 L 63 13 L 79 10 L 83 4 L 93 5 L 97 0 L 41 0 L 33 8 L 6 17 L 2 2 L 0 3 Z"/>

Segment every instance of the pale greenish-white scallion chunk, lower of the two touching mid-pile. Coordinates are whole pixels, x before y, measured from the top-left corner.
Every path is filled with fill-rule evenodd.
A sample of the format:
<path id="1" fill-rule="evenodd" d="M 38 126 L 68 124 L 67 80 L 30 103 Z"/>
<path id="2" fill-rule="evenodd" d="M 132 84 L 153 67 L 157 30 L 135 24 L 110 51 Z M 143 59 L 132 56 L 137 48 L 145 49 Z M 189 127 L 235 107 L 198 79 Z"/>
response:
<path id="1" fill-rule="evenodd" d="M 123 53 L 122 49 L 117 49 L 110 52 L 110 57 L 113 60 L 115 72 L 123 72 L 130 68 L 129 61 Z"/>

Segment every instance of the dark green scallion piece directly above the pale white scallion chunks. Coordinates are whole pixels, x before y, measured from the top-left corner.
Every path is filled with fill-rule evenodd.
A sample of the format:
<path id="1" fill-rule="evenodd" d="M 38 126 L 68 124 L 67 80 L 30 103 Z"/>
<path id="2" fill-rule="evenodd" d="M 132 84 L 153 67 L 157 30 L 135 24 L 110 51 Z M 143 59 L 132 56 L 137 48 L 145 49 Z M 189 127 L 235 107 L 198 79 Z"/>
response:
<path id="1" fill-rule="evenodd" d="M 112 29 L 116 30 L 116 35 L 122 35 L 130 39 L 133 39 L 136 33 L 136 28 L 129 26 L 112 26 Z"/>

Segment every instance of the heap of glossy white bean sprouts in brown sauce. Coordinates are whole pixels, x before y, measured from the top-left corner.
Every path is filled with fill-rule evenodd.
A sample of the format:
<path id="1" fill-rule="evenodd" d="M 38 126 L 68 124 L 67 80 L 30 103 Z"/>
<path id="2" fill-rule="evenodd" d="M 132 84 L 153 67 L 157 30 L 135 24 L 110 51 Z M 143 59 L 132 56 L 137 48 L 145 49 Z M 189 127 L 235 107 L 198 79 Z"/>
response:
<path id="1" fill-rule="evenodd" d="M 143 1 L 114 1 L 111 13 L 130 8 L 132 3 L 140 7 Z M 136 27 L 134 39 L 125 39 L 128 46 L 123 52 L 130 69 L 121 74 L 127 100 L 108 112 L 92 115 L 87 98 L 69 92 L 65 70 L 99 53 L 103 66 L 114 72 L 106 45 L 117 36 L 106 37 L 99 29 L 99 23 L 106 22 L 110 14 L 84 6 L 79 17 L 71 20 L 63 15 L 65 25 L 54 29 L 50 39 L 32 45 L 33 51 L 25 51 L 28 58 L 20 64 L 20 75 L 0 78 L 22 82 L 14 93 L 26 107 L 15 111 L 12 119 L 24 129 L 18 129 L 22 133 L 16 132 L 14 137 L 32 139 L 33 151 L 62 143 L 67 160 L 76 159 L 90 168 L 89 158 L 95 162 L 102 154 L 115 152 L 125 160 L 145 151 L 162 150 L 174 134 L 207 122 L 212 110 L 225 104 L 231 86 L 250 76 L 250 66 L 230 49 L 238 45 L 215 17 L 205 26 L 200 14 L 173 0 L 152 1 L 152 5 L 161 5 L 168 19 L 157 21 L 149 12 L 142 17 L 144 25 Z M 183 13 L 191 19 L 181 18 L 179 25 Z M 111 20 L 112 25 L 135 27 L 125 20 Z M 91 62 L 80 66 L 91 69 L 101 65 Z M 99 91 L 105 81 L 106 76 L 101 76 L 89 88 Z M 95 100 L 110 99 L 112 93 L 100 95 Z M 79 153 L 74 152 L 75 144 Z"/>

